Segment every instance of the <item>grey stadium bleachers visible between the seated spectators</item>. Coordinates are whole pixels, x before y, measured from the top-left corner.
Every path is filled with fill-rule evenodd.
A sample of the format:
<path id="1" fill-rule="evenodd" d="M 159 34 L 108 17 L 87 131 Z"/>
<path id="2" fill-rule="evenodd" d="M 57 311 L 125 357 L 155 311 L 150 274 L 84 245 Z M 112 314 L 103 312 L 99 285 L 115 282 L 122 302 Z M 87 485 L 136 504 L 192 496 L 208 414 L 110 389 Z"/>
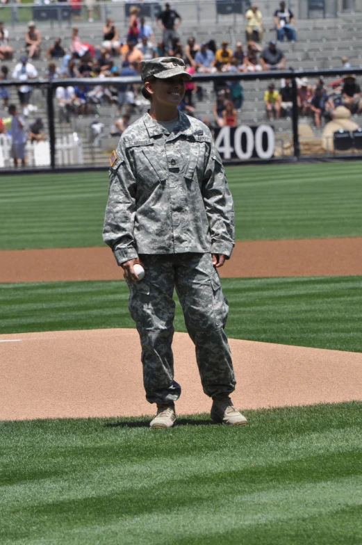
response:
<path id="1" fill-rule="evenodd" d="M 113 5 L 111 10 L 116 10 Z M 181 12 L 181 10 L 179 10 Z M 110 15 L 112 14 L 112 11 Z M 116 17 L 115 17 L 116 19 Z M 160 29 L 151 23 L 154 29 L 156 41 L 161 38 Z M 88 22 L 74 22 L 74 25 L 79 27 L 79 35 L 81 39 L 92 43 L 94 46 L 100 45 L 102 41 L 101 27 L 102 23 L 88 23 Z M 126 27 L 124 19 L 118 24 L 120 29 L 120 35 L 125 35 Z M 315 70 L 315 79 L 318 77 L 318 69 L 329 67 L 341 67 L 341 56 L 347 56 L 349 63 L 352 67 L 362 67 L 362 51 L 360 44 L 362 41 L 362 14 L 348 14 L 340 15 L 338 19 L 308 19 L 297 20 L 297 42 L 290 43 L 284 42 L 278 44 L 278 47 L 285 53 L 287 67 L 293 67 L 294 69 L 311 69 Z M 275 39 L 275 31 L 273 29 L 274 23 L 272 19 L 264 20 L 264 42 L 261 44 L 264 46 L 269 40 Z M 71 26 L 63 26 L 58 29 L 54 26 L 53 29 L 49 28 L 49 25 L 40 23 L 38 28 L 42 33 L 42 55 L 54 41 L 58 35 L 63 38 L 63 45 L 69 47 L 70 36 L 72 32 Z M 9 72 L 13 71 L 15 63 L 19 59 L 19 56 L 24 54 L 24 31 L 26 26 L 17 26 L 15 29 L 9 29 L 10 31 L 10 44 L 15 49 L 15 55 L 13 60 L 3 61 L 8 65 Z M 200 25 L 192 22 L 192 19 L 183 18 L 183 24 L 179 27 L 179 35 L 183 44 L 186 44 L 186 40 L 190 35 L 195 36 L 197 43 L 201 41 L 208 41 L 213 38 L 217 44 L 224 39 L 229 40 L 229 47 L 234 48 L 237 41 L 241 40 L 246 43 L 245 40 L 245 23 L 242 17 L 237 17 L 235 20 L 231 16 L 220 17 L 218 23 L 215 22 L 213 14 L 205 22 L 202 21 Z M 118 58 L 115 58 L 117 63 Z M 40 60 L 31 60 L 31 62 L 38 69 L 40 78 L 44 77 L 44 73 L 47 70 L 48 60 L 41 58 Z M 120 63 L 122 61 L 120 60 Z M 59 63 L 58 63 L 59 64 Z M 315 79 L 311 79 L 312 84 L 315 83 Z M 362 79 L 362 78 L 361 78 Z M 358 83 L 362 81 L 357 80 Z M 263 102 L 263 93 L 268 86 L 268 81 L 242 81 L 242 88 L 244 90 L 245 100 L 242 104 L 241 110 L 238 112 L 239 122 L 245 123 L 270 123 L 265 115 L 265 107 Z M 277 88 L 279 82 L 275 82 Z M 203 83 L 204 99 L 201 102 L 196 101 L 196 114 L 197 117 L 204 119 L 207 117 L 211 122 L 213 121 L 213 103 L 215 101 L 215 95 L 213 92 L 212 83 Z M 17 102 L 17 95 L 15 88 L 11 88 L 10 101 Z M 29 114 L 29 120 L 35 117 L 42 117 L 44 124 L 47 125 L 46 114 L 46 101 L 42 92 L 39 89 L 34 90 L 31 103 L 38 109 L 37 111 Z M 132 116 L 132 121 L 142 113 L 146 111 L 147 106 L 139 108 Z M 3 106 L 0 106 L 0 117 L 6 117 L 6 112 L 3 110 Z M 99 142 L 97 152 L 94 149 L 94 145 L 89 143 L 88 148 L 85 148 L 85 163 L 104 164 L 105 158 L 101 153 L 104 150 L 104 154 L 108 154 L 109 149 L 113 149 L 114 143 L 117 138 L 108 139 L 109 128 L 114 123 L 117 116 L 117 106 L 104 104 L 101 106 L 94 106 L 93 113 L 87 116 L 74 117 L 69 124 L 60 124 L 58 115 L 56 117 L 56 135 L 61 136 L 72 131 L 78 132 L 83 138 L 83 143 L 90 140 L 90 124 L 94 119 L 100 120 L 105 125 L 104 133 Z M 362 125 L 361 116 L 352 116 L 354 120 Z M 313 125 L 312 119 L 304 119 L 302 122 Z M 282 118 L 279 120 L 273 120 L 272 124 L 277 132 L 277 139 L 285 140 L 290 138 L 291 135 L 291 121 L 288 118 Z"/>

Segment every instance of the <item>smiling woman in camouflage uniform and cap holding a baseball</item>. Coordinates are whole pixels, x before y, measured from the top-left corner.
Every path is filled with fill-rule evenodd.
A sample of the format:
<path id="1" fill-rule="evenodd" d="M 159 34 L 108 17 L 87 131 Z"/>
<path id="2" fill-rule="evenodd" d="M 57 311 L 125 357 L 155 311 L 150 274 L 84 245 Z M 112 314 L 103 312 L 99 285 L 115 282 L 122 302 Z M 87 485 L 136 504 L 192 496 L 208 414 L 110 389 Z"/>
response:
<path id="1" fill-rule="evenodd" d="M 142 94 L 151 108 L 122 133 L 110 157 L 104 241 L 129 286 L 146 399 L 157 404 L 151 428 L 174 425 L 181 393 L 171 348 L 174 287 L 202 387 L 213 398 L 211 418 L 247 423 L 229 397 L 236 384 L 224 333 L 229 307 L 217 274 L 234 245 L 233 202 L 209 129 L 177 109 L 190 79 L 180 58 L 142 61 Z M 135 263 L 146 270 L 142 280 Z"/>

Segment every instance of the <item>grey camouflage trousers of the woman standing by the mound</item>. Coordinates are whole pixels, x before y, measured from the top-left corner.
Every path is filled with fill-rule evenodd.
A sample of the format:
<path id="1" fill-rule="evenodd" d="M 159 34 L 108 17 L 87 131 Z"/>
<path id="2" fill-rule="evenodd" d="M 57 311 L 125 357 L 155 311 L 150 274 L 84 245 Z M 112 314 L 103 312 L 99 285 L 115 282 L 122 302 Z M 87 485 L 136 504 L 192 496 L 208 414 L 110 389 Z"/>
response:
<path id="1" fill-rule="evenodd" d="M 129 283 L 129 311 L 142 345 L 143 381 L 150 403 L 175 401 L 181 386 L 174 380 L 174 287 L 188 334 L 195 343 L 201 384 L 207 396 L 231 393 L 235 377 L 224 325 L 229 307 L 211 254 L 143 254 L 145 278 Z"/>

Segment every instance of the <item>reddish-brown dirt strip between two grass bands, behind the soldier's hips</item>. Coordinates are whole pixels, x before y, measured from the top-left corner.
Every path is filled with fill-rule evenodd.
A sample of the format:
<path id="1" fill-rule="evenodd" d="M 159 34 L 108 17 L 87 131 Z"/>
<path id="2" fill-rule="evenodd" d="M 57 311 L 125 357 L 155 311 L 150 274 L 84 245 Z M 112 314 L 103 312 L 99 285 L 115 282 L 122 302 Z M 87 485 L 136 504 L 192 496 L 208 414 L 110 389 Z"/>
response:
<path id="1" fill-rule="evenodd" d="M 122 278 L 106 246 L 0 252 L 0 282 Z M 222 277 L 362 275 L 362 237 L 237 242 Z"/>

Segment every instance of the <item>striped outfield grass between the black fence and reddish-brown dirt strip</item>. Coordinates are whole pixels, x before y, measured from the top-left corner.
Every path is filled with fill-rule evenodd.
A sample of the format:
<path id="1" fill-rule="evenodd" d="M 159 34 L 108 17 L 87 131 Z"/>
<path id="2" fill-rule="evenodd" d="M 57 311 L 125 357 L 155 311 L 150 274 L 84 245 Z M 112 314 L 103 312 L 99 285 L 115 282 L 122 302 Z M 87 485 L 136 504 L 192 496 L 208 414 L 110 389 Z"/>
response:
<path id="1" fill-rule="evenodd" d="M 359 163 L 228 167 L 238 240 L 362 236 Z M 0 248 L 103 244 L 108 173 L 3 176 Z"/>

